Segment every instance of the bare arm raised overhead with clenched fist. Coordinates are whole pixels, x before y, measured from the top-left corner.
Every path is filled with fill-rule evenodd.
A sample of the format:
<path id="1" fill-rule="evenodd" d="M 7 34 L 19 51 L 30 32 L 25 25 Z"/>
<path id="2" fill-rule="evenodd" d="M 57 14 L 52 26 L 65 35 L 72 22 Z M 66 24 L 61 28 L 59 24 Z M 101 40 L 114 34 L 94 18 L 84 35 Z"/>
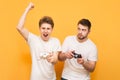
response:
<path id="1" fill-rule="evenodd" d="M 25 12 L 23 13 L 23 15 L 21 16 L 20 18 L 20 21 L 17 25 L 17 30 L 18 32 L 24 37 L 25 40 L 28 39 L 28 34 L 29 34 L 29 31 L 24 28 L 24 23 L 25 23 L 25 19 L 26 19 L 26 16 L 28 14 L 28 12 L 34 7 L 34 5 L 32 3 L 30 3 L 28 5 L 28 7 L 26 8 Z"/>

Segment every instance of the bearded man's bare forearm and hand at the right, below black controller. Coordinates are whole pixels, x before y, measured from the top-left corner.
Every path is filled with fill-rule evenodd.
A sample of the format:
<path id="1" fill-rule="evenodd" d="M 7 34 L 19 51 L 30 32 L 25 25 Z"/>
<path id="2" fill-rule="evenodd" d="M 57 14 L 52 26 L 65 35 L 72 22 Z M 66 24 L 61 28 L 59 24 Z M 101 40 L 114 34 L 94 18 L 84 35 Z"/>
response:
<path id="1" fill-rule="evenodd" d="M 83 58 L 78 58 L 77 62 L 79 64 L 82 64 L 83 67 L 89 72 L 93 72 L 96 66 L 96 61 L 90 61 L 90 60 L 84 61 Z"/>

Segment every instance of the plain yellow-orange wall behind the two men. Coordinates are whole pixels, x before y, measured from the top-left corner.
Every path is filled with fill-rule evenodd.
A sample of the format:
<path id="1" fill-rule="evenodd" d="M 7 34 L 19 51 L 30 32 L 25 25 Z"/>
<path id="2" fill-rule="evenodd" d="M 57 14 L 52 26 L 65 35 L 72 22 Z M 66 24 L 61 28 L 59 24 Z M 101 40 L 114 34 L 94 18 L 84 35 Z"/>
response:
<path id="1" fill-rule="evenodd" d="M 66 36 L 76 34 L 79 19 L 90 19 L 89 37 L 96 43 L 99 53 L 92 80 L 120 80 L 120 0 L 1 0 L 0 80 L 29 80 L 30 51 L 16 25 L 30 1 L 35 8 L 28 14 L 25 26 L 39 34 L 39 19 L 51 16 L 55 22 L 52 35 L 61 43 Z M 55 67 L 60 80 L 63 63 Z"/>

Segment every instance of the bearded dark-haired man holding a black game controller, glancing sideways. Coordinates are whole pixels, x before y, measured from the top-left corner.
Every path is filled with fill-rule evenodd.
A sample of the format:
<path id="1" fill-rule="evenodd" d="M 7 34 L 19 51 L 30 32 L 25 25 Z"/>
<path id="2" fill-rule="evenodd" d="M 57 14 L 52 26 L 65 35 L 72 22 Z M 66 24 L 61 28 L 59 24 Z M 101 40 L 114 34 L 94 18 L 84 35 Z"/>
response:
<path id="1" fill-rule="evenodd" d="M 91 22 L 81 19 L 77 24 L 77 35 L 65 38 L 60 61 L 65 61 L 61 80 L 90 80 L 97 61 L 96 45 L 88 38 Z"/>

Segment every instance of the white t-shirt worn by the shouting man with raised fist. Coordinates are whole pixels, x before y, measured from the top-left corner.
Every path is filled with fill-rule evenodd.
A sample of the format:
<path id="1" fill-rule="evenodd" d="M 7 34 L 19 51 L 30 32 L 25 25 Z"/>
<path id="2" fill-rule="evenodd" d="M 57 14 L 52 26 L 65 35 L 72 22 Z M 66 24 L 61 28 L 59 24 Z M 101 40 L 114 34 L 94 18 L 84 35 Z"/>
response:
<path id="1" fill-rule="evenodd" d="M 52 51 L 60 51 L 60 41 L 57 38 L 50 38 L 44 42 L 39 36 L 29 33 L 28 44 L 32 58 L 30 80 L 56 80 L 54 65 L 41 56 Z"/>

